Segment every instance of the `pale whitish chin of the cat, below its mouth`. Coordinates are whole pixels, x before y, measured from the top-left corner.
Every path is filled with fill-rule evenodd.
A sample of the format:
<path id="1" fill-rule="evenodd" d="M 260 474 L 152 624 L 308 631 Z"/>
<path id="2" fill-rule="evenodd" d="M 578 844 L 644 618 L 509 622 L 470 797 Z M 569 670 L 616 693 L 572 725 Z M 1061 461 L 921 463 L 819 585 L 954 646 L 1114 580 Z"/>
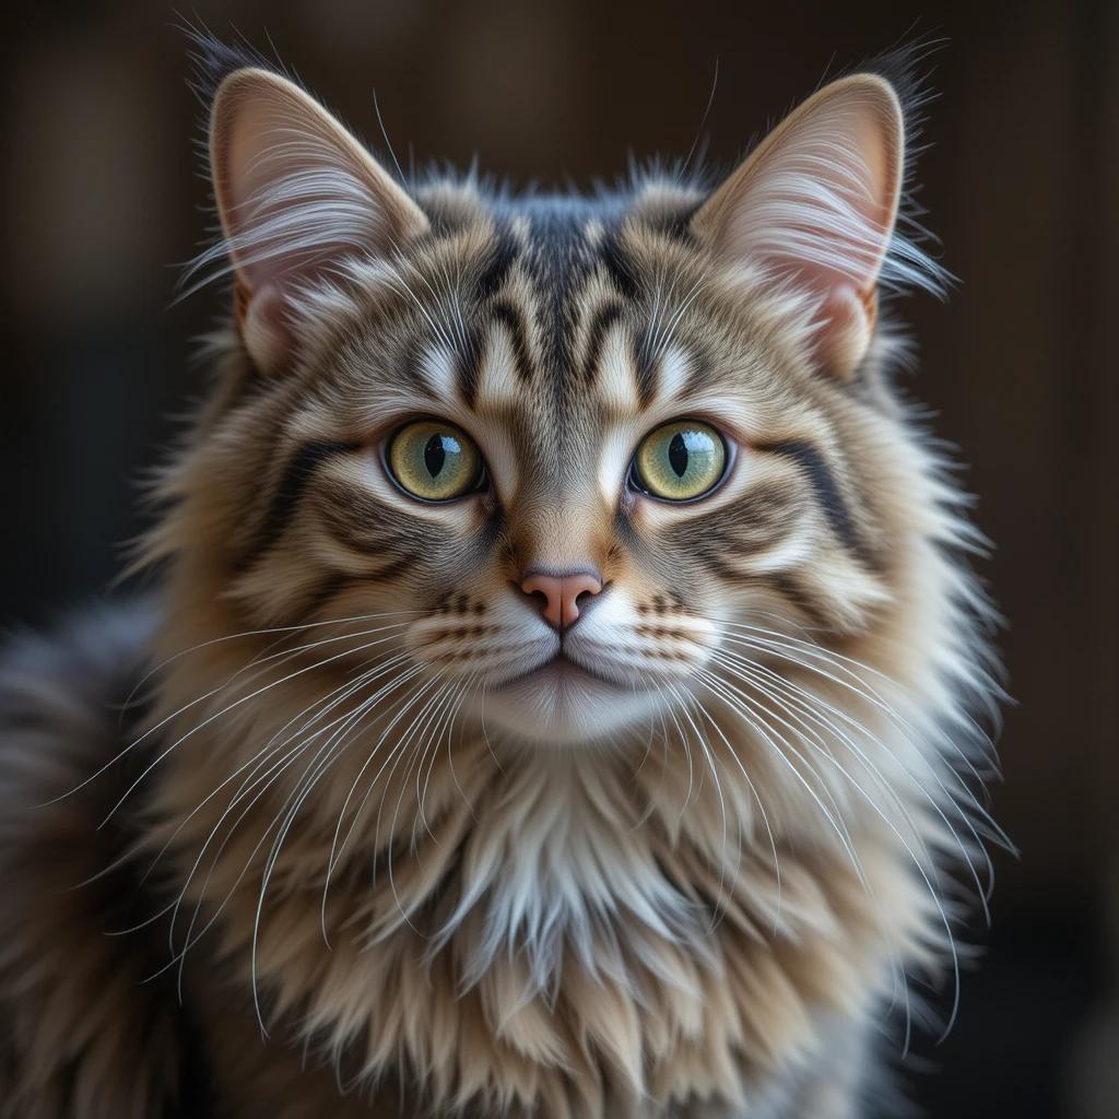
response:
<path id="1" fill-rule="evenodd" d="M 553 661 L 487 693 L 480 712 L 488 726 L 518 739 L 576 745 L 639 728 L 655 703 L 649 692 Z"/>

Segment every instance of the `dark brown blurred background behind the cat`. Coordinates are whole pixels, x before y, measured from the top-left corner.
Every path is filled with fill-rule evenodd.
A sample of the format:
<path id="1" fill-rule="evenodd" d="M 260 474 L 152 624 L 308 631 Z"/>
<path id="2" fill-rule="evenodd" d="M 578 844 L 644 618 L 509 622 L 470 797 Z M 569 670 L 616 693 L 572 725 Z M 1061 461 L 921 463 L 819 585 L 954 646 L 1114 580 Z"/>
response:
<path id="1" fill-rule="evenodd" d="M 180 9 L 181 10 L 181 9 Z M 18 15 L 16 13 L 18 11 Z M 161 3 L 6 16 L 0 624 L 106 593 L 135 482 L 200 387 L 217 298 L 170 307 L 205 236 L 187 43 Z M 961 284 L 904 314 L 911 388 L 960 448 L 1018 705 L 994 928 L 949 1040 L 904 1064 L 937 1117 L 1119 1116 L 1116 741 L 1119 7 L 743 0 L 269 0 L 186 10 L 280 56 L 402 162 L 612 177 L 703 128 L 728 166 L 821 77 L 942 36 L 920 201 Z"/>

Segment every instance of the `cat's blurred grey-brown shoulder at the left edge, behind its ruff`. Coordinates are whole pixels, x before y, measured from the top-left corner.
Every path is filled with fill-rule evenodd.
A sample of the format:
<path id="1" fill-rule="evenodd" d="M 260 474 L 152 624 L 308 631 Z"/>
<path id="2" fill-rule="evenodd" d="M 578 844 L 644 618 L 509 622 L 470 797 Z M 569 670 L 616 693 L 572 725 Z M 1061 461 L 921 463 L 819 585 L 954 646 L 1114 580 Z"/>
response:
<path id="1" fill-rule="evenodd" d="M 172 985 L 124 934 L 147 906 L 110 812 L 133 767 L 100 772 L 134 739 L 156 621 L 151 602 L 100 606 L 0 651 L 3 1119 L 181 1113 Z"/>

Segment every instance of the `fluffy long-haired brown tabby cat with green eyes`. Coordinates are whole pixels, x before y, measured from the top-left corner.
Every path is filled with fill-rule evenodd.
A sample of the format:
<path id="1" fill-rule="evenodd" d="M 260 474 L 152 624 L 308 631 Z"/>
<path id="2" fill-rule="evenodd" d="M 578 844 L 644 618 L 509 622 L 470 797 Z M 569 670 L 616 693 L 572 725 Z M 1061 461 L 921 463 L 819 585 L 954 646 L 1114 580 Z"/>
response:
<path id="1" fill-rule="evenodd" d="M 0 1115 L 865 1113 L 998 838 L 905 66 L 594 197 L 201 66 L 156 586 L 0 671 Z"/>

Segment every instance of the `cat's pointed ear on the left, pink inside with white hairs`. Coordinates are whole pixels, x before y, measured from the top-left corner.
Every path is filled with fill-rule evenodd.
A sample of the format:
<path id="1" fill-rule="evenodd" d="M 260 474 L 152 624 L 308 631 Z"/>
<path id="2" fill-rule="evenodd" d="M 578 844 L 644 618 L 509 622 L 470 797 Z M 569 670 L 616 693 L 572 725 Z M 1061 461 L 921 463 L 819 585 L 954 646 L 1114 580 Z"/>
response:
<path id="1" fill-rule="evenodd" d="M 365 148 L 278 74 L 246 68 L 222 82 L 209 151 L 237 325 L 262 372 L 291 356 L 301 286 L 341 260 L 387 254 L 427 228 Z"/>

